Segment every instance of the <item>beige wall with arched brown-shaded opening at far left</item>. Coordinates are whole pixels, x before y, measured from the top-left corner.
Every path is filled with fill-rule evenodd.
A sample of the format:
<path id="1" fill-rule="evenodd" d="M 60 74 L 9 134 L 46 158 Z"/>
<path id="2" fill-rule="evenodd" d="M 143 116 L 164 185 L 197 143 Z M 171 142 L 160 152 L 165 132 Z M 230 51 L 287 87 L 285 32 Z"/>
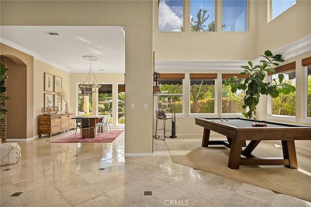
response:
<path id="1" fill-rule="evenodd" d="M 10 60 L 7 67 L 7 138 L 25 139 L 34 136 L 34 59 L 31 55 L 0 44 L 1 55 Z M 20 98 L 19 98 L 20 96 Z M 17 131 L 17 122 L 22 122 Z"/>

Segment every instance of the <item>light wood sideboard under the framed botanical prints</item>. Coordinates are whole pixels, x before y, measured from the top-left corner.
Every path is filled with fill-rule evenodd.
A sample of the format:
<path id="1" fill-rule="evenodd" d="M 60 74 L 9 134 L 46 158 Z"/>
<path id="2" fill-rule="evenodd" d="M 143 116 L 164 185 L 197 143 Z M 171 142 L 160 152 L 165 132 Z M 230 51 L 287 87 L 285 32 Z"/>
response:
<path id="1" fill-rule="evenodd" d="M 75 120 L 71 119 L 74 114 L 50 114 L 39 115 L 38 118 L 38 136 L 49 135 L 64 132 L 75 128 Z"/>

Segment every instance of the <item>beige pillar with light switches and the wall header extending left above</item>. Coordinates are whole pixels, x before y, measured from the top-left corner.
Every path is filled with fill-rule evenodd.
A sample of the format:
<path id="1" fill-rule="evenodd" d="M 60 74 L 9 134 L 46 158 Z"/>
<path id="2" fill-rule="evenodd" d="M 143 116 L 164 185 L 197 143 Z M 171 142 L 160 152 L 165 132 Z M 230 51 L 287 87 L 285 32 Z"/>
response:
<path id="1" fill-rule="evenodd" d="M 0 3 L 1 25 L 125 26 L 125 155 L 152 155 L 153 2 L 1 0 Z M 29 80 L 32 82 L 33 77 Z M 135 104 L 134 110 L 130 104 Z M 150 107 L 143 109 L 143 104 Z"/>

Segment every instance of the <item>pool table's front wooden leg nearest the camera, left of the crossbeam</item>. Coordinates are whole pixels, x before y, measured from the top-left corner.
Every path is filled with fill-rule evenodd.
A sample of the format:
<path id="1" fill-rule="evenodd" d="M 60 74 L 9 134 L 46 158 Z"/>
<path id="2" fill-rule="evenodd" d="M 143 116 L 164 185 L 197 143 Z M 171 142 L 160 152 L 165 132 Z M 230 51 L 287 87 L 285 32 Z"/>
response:
<path id="1" fill-rule="evenodd" d="M 239 169 L 243 140 L 231 139 L 228 167 Z"/>

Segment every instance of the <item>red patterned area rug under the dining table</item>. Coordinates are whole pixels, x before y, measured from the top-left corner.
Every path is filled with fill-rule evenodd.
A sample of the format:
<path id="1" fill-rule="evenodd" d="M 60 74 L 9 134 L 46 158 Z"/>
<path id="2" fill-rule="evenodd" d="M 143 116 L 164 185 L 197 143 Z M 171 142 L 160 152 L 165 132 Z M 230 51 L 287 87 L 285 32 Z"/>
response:
<path id="1" fill-rule="evenodd" d="M 50 143 L 79 143 L 79 142 L 113 142 L 124 130 L 111 130 L 109 134 L 97 133 L 95 138 L 80 138 L 80 133 L 71 134 L 67 137 L 51 140 Z"/>

